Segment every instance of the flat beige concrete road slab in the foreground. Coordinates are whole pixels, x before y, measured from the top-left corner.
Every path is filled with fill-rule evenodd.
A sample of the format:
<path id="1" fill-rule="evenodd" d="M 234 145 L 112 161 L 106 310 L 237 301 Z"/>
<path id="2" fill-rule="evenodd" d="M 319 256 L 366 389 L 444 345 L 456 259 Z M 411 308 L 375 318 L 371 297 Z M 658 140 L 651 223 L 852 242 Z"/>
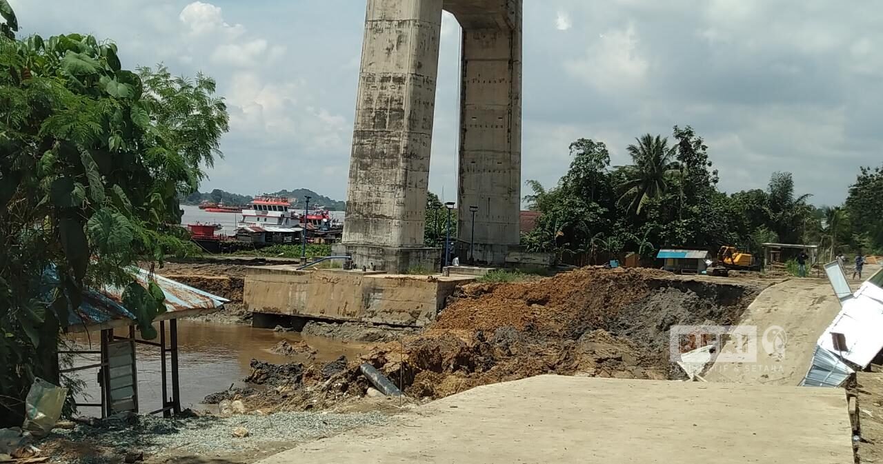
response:
<path id="1" fill-rule="evenodd" d="M 474 388 L 262 464 L 852 462 L 838 389 L 540 376 Z"/>

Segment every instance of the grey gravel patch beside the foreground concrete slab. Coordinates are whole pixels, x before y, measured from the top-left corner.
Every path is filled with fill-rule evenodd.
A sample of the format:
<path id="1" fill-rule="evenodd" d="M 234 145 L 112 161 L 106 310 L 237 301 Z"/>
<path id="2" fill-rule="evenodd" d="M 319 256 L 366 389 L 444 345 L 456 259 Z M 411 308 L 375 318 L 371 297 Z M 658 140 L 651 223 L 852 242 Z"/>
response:
<path id="1" fill-rule="evenodd" d="M 200 416 L 186 419 L 163 419 L 140 415 L 129 423 L 109 427 L 78 425 L 75 430 L 58 430 L 49 438 L 89 443 L 117 450 L 117 454 L 143 452 L 145 457 L 163 453 L 217 454 L 260 448 L 262 443 L 301 442 L 326 438 L 345 430 L 380 425 L 389 421 L 381 413 L 275 413 L 272 415 Z M 236 438 L 233 430 L 248 430 L 248 436 Z M 67 458 L 65 456 L 65 458 Z M 81 462 L 83 460 L 61 460 Z M 90 460 L 92 461 L 92 460 Z"/>

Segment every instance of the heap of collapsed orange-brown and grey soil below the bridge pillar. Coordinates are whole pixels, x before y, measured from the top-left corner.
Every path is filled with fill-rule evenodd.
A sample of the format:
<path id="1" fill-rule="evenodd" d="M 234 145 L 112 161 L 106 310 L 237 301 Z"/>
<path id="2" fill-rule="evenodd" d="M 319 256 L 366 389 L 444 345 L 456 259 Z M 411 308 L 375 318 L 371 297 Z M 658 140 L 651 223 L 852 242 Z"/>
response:
<path id="1" fill-rule="evenodd" d="M 758 291 L 646 269 L 585 268 L 540 281 L 472 284 L 422 333 L 381 344 L 345 369 L 338 360 L 336 373 L 320 365 L 302 375 L 294 370 L 275 388 L 242 400 L 265 411 L 341 408 L 371 386 L 358 370 L 362 362 L 416 399 L 547 373 L 671 378 L 670 327 L 735 324 Z"/>

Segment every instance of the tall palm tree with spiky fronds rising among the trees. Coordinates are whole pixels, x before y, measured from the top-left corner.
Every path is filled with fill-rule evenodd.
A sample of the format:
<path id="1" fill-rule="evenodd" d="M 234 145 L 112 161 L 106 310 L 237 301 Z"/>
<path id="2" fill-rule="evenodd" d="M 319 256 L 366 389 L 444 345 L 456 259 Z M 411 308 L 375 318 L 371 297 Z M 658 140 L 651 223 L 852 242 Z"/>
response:
<path id="1" fill-rule="evenodd" d="M 627 210 L 640 214 L 648 200 L 668 190 L 668 181 L 680 170 L 674 163 L 677 148 L 668 146 L 668 138 L 645 134 L 636 140 L 638 145 L 627 148 L 634 164 L 627 168 L 628 179 L 619 186 L 619 201 L 628 202 Z"/>

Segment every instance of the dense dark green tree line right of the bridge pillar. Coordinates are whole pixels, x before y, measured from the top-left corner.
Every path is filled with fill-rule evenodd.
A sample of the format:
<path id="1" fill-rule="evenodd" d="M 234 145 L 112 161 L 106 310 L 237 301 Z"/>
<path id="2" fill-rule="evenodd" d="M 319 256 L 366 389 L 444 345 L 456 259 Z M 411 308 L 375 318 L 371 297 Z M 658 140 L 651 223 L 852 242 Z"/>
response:
<path id="1" fill-rule="evenodd" d="M 528 181 L 525 201 L 540 218 L 525 247 L 572 264 L 628 252 L 653 258 L 662 248 L 759 253 L 762 243 L 819 244 L 823 258 L 883 252 L 883 168 L 860 168 L 842 205 L 816 207 L 788 172 L 774 172 L 766 189 L 720 191 L 708 146 L 690 126 L 675 126 L 671 138 L 645 134 L 626 150 L 631 163 L 611 166 L 604 142 L 580 138 L 555 187 Z"/>

